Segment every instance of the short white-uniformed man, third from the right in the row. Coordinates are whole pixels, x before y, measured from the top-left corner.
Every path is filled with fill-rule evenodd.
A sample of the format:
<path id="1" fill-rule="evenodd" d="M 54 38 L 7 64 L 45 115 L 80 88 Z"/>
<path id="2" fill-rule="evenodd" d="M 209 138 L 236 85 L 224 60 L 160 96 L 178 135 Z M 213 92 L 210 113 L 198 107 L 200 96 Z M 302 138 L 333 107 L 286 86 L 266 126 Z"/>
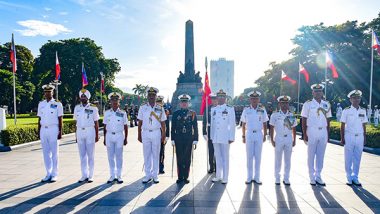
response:
<path id="1" fill-rule="evenodd" d="M 280 185 L 280 171 L 282 157 L 284 157 L 284 180 L 283 183 L 290 185 L 289 173 L 291 166 L 292 149 L 296 145 L 296 126 L 297 119 L 295 115 L 289 111 L 289 96 L 280 96 L 277 101 L 280 110 L 274 112 L 270 118 L 270 139 L 273 147 L 275 147 L 274 160 L 274 176 L 275 184 Z M 276 137 L 274 137 L 274 132 Z"/>

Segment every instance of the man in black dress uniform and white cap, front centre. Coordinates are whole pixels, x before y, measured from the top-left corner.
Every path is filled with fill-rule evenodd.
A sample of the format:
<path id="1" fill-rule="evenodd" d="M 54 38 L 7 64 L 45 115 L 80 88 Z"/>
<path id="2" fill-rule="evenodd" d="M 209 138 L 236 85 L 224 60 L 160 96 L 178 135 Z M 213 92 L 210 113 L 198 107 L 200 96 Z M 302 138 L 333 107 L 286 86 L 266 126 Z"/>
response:
<path id="1" fill-rule="evenodd" d="M 191 164 L 192 148 L 198 143 L 197 114 L 189 108 L 189 95 L 182 94 L 180 100 L 180 110 L 173 113 L 172 117 L 172 146 L 175 146 L 177 156 L 177 183 L 189 183 L 189 171 Z"/>

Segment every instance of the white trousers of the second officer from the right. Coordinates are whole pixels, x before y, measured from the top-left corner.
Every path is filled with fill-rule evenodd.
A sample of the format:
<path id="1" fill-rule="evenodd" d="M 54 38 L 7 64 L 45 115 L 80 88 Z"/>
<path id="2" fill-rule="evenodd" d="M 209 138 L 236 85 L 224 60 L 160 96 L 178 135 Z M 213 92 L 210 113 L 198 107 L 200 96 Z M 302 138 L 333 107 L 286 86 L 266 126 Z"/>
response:
<path id="1" fill-rule="evenodd" d="M 307 163 L 309 167 L 309 178 L 315 180 L 321 178 L 323 160 L 327 145 L 326 128 L 308 127 Z"/>

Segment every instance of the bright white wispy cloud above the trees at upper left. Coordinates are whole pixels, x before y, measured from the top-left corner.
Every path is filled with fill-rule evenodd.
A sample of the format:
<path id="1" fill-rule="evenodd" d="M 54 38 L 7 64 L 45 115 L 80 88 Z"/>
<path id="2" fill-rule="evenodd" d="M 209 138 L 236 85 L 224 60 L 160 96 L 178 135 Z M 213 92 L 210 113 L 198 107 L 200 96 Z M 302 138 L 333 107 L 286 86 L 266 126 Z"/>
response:
<path id="1" fill-rule="evenodd" d="M 65 26 L 51 22 L 25 20 L 18 21 L 17 23 L 26 28 L 23 30 L 17 30 L 23 36 L 56 36 L 61 33 L 71 32 L 71 30 L 67 29 Z"/>

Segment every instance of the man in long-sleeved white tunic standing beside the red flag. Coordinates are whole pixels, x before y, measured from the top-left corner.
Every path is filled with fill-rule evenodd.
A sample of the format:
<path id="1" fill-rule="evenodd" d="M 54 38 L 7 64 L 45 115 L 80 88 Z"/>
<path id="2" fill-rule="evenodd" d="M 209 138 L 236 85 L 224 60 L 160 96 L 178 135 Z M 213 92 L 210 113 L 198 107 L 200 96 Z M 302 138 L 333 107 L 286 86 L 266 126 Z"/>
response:
<path id="1" fill-rule="evenodd" d="M 210 138 L 214 145 L 216 176 L 212 182 L 228 182 L 230 144 L 235 141 L 235 110 L 226 105 L 227 94 L 222 89 L 216 94 L 218 106 L 211 109 Z"/>

